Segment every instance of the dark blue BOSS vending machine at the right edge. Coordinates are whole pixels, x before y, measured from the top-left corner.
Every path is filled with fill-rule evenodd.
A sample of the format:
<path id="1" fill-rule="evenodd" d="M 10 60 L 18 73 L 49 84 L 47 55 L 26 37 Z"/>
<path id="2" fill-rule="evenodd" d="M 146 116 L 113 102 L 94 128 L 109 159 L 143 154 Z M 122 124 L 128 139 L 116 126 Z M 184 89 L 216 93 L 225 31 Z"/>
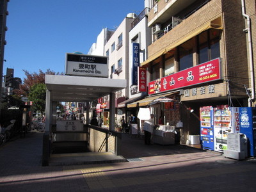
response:
<path id="1" fill-rule="evenodd" d="M 256 156 L 256 108 L 239 108 L 240 133 L 246 135 L 248 156 Z"/>

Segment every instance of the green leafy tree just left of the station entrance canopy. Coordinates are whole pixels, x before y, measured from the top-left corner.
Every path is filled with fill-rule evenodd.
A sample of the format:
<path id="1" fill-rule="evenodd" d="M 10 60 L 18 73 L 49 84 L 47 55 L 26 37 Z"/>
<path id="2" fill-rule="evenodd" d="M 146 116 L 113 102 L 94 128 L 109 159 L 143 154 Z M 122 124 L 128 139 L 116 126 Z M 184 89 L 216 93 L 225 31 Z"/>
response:
<path id="1" fill-rule="evenodd" d="M 28 99 L 33 101 L 32 108 L 35 111 L 40 111 L 41 114 L 45 111 L 46 86 L 44 83 L 38 83 L 31 86 Z"/>

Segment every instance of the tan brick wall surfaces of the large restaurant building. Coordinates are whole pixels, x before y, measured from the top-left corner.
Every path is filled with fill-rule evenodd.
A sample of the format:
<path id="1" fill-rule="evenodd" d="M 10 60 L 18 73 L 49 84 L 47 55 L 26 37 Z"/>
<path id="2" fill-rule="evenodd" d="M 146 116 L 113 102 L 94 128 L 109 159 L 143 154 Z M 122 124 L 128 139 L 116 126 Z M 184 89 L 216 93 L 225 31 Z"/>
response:
<path id="1" fill-rule="evenodd" d="M 252 23 L 255 21 L 255 0 L 247 0 L 246 6 L 251 6 L 250 14 Z M 250 1 L 250 3 L 249 3 Z M 160 10 L 159 10 L 160 11 Z M 195 31 L 207 22 L 222 17 L 223 30 L 220 40 L 221 73 L 225 81 L 215 84 L 214 94 L 197 95 L 196 97 L 182 97 L 182 100 L 204 99 L 212 97 L 227 96 L 228 88 L 232 96 L 246 97 L 244 84 L 249 86 L 249 68 L 246 52 L 246 33 L 244 33 L 244 19 L 241 11 L 241 0 L 212 0 L 205 4 L 200 10 L 193 13 L 190 17 L 183 20 L 178 26 L 156 40 L 148 47 L 148 57 L 163 50 L 170 44 L 179 42 L 182 38 Z M 253 20 L 254 19 L 254 20 Z M 255 22 L 252 24 L 255 28 Z M 253 31 L 255 36 L 255 31 Z M 253 38 L 255 38 L 253 36 Z M 255 47 L 253 51 L 255 52 Z M 254 54 L 255 55 L 255 54 Z M 194 63 L 195 64 L 195 63 Z M 228 87 L 229 86 L 229 87 Z"/>

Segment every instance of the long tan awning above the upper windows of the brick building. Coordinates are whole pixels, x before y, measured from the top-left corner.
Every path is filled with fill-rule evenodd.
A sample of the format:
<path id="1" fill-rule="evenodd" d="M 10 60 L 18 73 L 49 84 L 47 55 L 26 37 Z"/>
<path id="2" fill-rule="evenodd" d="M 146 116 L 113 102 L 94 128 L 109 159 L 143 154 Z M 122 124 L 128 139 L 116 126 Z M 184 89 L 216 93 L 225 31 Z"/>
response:
<path id="1" fill-rule="evenodd" d="M 189 39 L 193 38 L 196 35 L 199 35 L 203 31 L 206 31 L 207 29 L 223 29 L 222 17 L 218 17 L 217 19 L 211 20 L 211 21 L 207 22 L 206 24 L 199 26 L 198 28 L 194 29 L 193 31 L 190 31 L 186 36 L 182 36 L 182 38 L 177 39 L 172 44 L 164 47 L 160 51 L 157 51 L 155 54 L 150 56 L 146 61 L 141 63 L 141 67 L 143 67 L 143 65 L 147 65 L 148 63 L 150 63 L 153 60 L 156 60 L 162 54 L 166 54 L 168 51 L 172 51 L 172 49 L 174 49 L 175 47 L 183 44 L 184 42 L 188 41 Z"/>

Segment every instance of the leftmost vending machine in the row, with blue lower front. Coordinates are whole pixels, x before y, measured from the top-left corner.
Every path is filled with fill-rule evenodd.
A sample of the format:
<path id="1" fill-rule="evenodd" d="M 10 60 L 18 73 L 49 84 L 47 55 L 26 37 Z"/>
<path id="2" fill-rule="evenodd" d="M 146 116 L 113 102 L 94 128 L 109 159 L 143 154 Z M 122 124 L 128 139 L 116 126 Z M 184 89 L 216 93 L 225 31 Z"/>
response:
<path id="1" fill-rule="evenodd" d="M 214 150 L 214 118 L 212 106 L 200 108 L 200 140 L 202 148 Z"/>

